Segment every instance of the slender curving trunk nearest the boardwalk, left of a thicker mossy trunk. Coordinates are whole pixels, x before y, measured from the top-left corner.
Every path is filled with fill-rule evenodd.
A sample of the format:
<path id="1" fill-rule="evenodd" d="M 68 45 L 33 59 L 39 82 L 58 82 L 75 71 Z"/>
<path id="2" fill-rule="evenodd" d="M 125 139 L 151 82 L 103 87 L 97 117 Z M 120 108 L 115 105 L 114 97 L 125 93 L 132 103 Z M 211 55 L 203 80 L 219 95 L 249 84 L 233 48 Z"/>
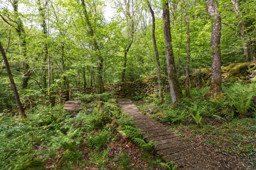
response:
<path id="1" fill-rule="evenodd" d="M 164 103 L 164 97 L 163 97 L 163 92 L 162 92 L 162 83 L 161 83 L 161 74 L 160 74 L 160 62 L 159 62 L 159 55 L 158 55 L 158 50 L 156 46 L 156 37 L 155 37 L 155 14 L 154 11 L 151 8 L 151 5 L 149 1 L 147 0 L 148 8 L 152 16 L 152 40 L 153 40 L 153 45 L 155 49 L 155 54 L 156 54 L 156 66 L 157 66 L 157 81 L 158 81 L 158 90 L 159 90 L 159 99 L 161 103 Z"/>

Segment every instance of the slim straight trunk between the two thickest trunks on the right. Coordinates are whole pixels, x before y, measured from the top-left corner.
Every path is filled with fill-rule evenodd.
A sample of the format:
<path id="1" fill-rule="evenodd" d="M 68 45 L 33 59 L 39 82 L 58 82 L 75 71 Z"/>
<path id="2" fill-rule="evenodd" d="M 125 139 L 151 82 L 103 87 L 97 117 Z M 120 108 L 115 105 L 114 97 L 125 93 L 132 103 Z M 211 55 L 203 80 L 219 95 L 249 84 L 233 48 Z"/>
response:
<path id="1" fill-rule="evenodd" d="M 190 97 L 190 92 L 189 92 L 189 60 L 190 60 L 190 49 L 189 49 L 189 43 L 190 43 L 190 33 L 189 33 L 189 22 L 188 22 L 188 15 L 187 15 L 187 11 L 186 11 L 186 5 L 184 0 L 182 0 L 184 3 L 184 7 L 185 7 L 185 23 L 187 25 L 187 60 L 186 60 L 186 81 L 185 81 L 185 94 L 187 97 Z"/>

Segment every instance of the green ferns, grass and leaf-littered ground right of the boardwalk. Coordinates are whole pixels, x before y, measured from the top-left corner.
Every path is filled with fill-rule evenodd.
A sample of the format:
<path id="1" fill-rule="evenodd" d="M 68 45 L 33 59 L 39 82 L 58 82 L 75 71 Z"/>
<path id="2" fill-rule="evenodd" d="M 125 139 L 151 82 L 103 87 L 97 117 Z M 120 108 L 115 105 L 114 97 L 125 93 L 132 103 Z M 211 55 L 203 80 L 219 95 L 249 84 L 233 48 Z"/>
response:
<path id="1" fill-rule="evenodd" d="M 237 155 L 255 167 L 255 83 L 234 83 L 224 86 L 217 98 L 204 96 L 207 89 L 191 89 L 191 98 L 175 104 L 158 104 L 156 96 L 147 96 L 135 102 L 147 115 L 163 123 L 180 136 L 213 147 L 212 152 Z M 215 145 L 219 147 L 215 147 Z"/>

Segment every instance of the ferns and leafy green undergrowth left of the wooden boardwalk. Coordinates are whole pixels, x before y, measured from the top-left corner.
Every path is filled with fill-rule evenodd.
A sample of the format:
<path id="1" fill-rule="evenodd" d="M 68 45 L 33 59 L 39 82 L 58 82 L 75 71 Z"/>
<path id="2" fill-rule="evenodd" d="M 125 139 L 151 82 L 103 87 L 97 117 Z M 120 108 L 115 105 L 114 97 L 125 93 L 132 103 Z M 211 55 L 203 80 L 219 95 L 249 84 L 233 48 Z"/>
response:
<path id="1" fill-rule="evenodd" d="M 80 95 L 81 102 L 86 98 L 91 102 L 77 110 L 75 117 L 62 105 L 46 106 L 47 101 L 30 109 L 27 118 L 1 113 L 0 169 L 161 166 L 150 151 L 154 142 L 142 139 L 134 122 L 126 118 L 113 98 L 102 97 L 111 96 L 109 93 L 100 96 L 101 99 L 99 95 Z M 140 156 L 136 161 L 143 162 L 143 166 L 134 165 L 131 156 Z"/>

